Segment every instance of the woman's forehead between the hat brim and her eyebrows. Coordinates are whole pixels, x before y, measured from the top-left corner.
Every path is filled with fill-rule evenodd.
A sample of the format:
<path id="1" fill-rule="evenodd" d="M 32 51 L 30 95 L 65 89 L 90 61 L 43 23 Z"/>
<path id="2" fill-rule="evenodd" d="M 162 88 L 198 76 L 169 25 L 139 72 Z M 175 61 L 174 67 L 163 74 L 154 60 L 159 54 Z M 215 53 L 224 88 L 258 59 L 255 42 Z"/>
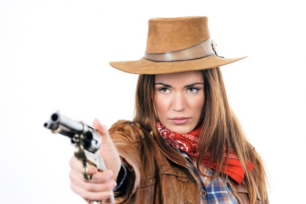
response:
<path id="1" fill-rule="evenodd" d="M 201 71 L 184 71 L 169 74 L 156 74 L 155 83 L 203 83 L 203 76 Z M 191 84 L 192 84 L 191 83 Z"/>

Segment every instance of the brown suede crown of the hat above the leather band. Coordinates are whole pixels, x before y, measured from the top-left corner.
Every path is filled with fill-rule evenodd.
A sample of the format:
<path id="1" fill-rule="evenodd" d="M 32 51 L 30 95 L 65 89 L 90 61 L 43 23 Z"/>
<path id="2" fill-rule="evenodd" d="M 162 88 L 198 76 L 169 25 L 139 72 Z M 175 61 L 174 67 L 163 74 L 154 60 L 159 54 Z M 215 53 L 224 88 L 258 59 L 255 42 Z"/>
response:
<path id="1" fill-rule="evenodd" d="M 150 19 L 146 52 L 173 52 L 197 45 L 208 38 L 206 16 Z"/>

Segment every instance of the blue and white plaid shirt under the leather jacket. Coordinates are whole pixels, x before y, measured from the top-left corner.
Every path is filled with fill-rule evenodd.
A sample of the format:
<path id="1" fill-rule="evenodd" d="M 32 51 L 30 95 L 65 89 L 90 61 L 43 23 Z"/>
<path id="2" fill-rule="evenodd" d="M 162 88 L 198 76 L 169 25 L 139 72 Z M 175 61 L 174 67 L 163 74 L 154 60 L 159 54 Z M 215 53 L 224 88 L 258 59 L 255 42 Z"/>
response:
<path id="1" fill-rule="evenodd" d="M 191 172 L 193 172 L 193 176 L 200 188 L 201 204 L 239 204 L 225 177 L 219 176 L 216 179 L 211 180 L 214 172 L 212 169 L 208 168 L 203 181 L 189 156 L 185 152 L 181 152 L 177 148 L 175 149 L 192 165 L 190 166 L 189 163 L 186 163 Z"/>

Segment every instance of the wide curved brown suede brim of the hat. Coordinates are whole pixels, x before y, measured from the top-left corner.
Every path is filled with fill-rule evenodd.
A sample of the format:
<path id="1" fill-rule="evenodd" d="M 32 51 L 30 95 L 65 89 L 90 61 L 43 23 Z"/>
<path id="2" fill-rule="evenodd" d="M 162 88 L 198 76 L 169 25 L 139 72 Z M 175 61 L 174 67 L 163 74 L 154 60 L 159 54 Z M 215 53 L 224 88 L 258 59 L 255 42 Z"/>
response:
<path id="1" fill-rule="evenodd" d="M 240 58 L 222 58 L 212 54 L 199 59 L 171 62 L 154 62 L 141 58 L 136 61 L 109 62 L 109 65 L 113 68 L 133 74 L 166 74 L 216 68 L 246 57 L 247 56 Z"/>

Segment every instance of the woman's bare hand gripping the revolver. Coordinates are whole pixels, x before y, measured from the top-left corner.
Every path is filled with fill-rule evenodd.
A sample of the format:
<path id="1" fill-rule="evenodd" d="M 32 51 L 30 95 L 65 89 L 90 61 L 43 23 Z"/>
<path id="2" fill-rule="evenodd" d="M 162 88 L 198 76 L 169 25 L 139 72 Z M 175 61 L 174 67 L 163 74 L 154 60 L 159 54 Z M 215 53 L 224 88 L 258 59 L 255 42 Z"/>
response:
<path id="1" fill-rule="evenodd" d="M 115 180 L 121 167 L 121 161 L 106 126 L 101 125 L 97 119 L 93 121 L 93 126 L 102 136 L 100 153 L 108 170 L 99 172 L 95 166 L 89 165 L 88 174 L 92 175 L 92 180 L 87 181 L 83 176 L 82 162 L 73 156 L 70 159 L 70 187 L 87 201 L 103 201 L 110 197 L 110 190 L 117 185 Z"/>

